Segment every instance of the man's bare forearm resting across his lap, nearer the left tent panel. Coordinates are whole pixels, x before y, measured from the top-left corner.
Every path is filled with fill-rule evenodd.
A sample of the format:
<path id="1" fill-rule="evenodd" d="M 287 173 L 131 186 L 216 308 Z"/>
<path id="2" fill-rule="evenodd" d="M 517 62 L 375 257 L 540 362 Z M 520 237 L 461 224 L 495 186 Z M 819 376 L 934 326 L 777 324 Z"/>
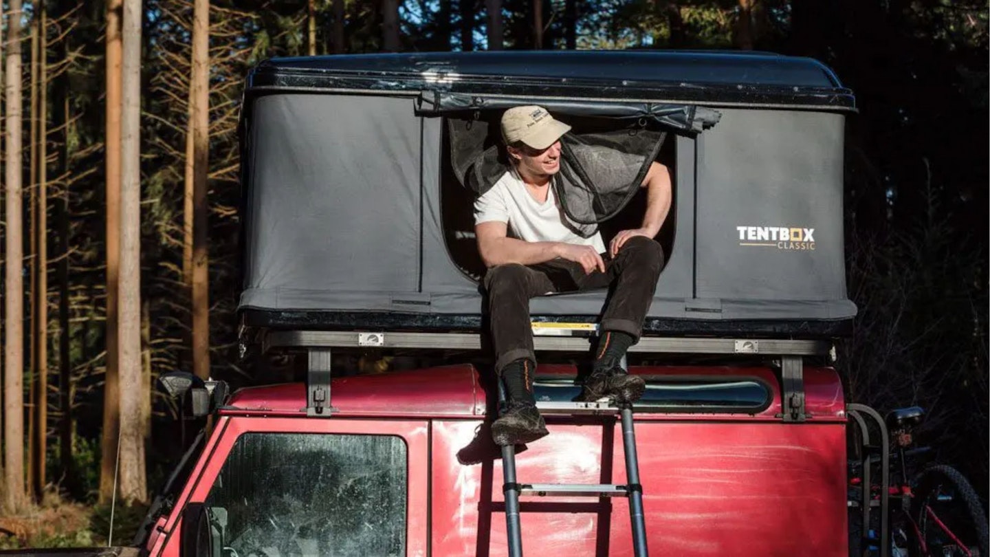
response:
<path id="1" fill-rule="evenodd" d="M 478 253 L 485 267 L 518 263 L 537 265 L 562 258 L 581 264 L 585 273 L 598 269 L 605 272 L 605 262 L 591 246 L 577 246 L 563 242 L 524 242 L 509 238 L 509 227 L 504 222 L 489 221 L 474 225 L 478 241 Z"/>

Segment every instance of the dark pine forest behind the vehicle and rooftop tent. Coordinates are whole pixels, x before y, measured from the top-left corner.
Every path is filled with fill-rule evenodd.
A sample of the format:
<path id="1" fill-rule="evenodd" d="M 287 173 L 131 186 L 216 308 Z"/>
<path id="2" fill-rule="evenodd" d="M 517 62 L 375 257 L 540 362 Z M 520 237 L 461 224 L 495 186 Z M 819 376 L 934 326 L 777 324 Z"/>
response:
<path id="1" fill-rule="evenodd" d="M 270 56 L 725 49 L 822 60 L 854 90 L 860 111 L 846 128 L 846 259 L 859 308 L 837 364 L 847 397 L 881 411 L 927 408 L 919 436 L 985 498 L 985 2 L 6 0 L 2 8 L 0 546 L 103 543 L 118 431 L 123 451 L 142 448 L 140 461 L 122 462 L 119 487 L 140 515 L 179 452 L 175 408 L 152 389 L 159 374 L 250 383 L 235 314 L 237 120 L 247 71 Z"/>

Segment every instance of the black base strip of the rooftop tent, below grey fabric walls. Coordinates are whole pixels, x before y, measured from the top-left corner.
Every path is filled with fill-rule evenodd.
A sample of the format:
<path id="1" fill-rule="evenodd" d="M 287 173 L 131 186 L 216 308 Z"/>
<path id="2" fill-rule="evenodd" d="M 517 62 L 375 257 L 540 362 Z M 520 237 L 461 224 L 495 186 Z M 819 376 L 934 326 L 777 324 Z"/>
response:
<path id="1" fill-rule="evenodd" d="M 242 309 L 246 327 L 315 331 L 481 332 L 478 314 L 406 313 L 395 311 L 318 311 Z M 595 323 L 594 315 L 534 315 L 546 323 Z M 647 317 L 644 336 L 725 336 L 829 339 L 849 336 L 852 319 L 672 319 Z"/>

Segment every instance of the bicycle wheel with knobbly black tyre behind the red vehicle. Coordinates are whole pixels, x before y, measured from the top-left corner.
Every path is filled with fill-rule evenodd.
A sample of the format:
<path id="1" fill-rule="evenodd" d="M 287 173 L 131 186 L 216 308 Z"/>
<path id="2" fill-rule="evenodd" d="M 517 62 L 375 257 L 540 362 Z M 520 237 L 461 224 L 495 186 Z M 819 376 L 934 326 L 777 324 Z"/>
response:
<path id="1" fill-rule="evenodd" d="M 942 492 L 949 492 L 954 503 L 951 511 L 947 508 L 940 508 L 942 514 L 940 519 L 951 520 L 954 526 L 953 533 L 962 536 L 961 541 L 969 549 L 978 549 L 980 557 L 990 556 L 987 551 L 987 539 L 990 537 L 990 527 L 987 525 L 987 515 L 983 511 L 983 505 L 973 490 L 973 487 L 959 471 L 950 466 L 932 466 L 921 472 L 913 483 L 916 486 L 914 498 L 911 501 L 911 517 L 918 525 L 916 532 L 913 556 L 926 557 L 922 550 L 922 540 L 929 546 L 928 555 L 941 555 L 942 553 L 931 553 L 933 546 L 951 547 L 954 545 L 950 539 L 941 531 L 935 520 L 930 519 L 927 511 L 928 507 L 935 504 L 937 507 L 944 507 L 935 498 Z M 958 531 L 956 531 L 958 530 Z M 920 535 L 920 539 L 918 538 Z M 946 539 L 949 543 L 943 544 Z M 958 555 L 964 555 L 961 551 Z"/>

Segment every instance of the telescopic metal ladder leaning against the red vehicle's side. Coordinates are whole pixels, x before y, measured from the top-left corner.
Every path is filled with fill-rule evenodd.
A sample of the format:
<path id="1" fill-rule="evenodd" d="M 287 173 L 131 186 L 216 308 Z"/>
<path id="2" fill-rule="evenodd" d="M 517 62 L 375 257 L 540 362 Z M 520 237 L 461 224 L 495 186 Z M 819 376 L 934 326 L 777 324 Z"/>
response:
<path id="1" fill-rule="evenodd" d="M 501 390 L 500 390 L 501 394 Z M 643 486 L 640 484 L 640 462 L 636 452 L 636 432 L 633 429 L 633 407 L 610 405 L 609 402 L 538 402 L 544 415 L 615 415 L 622 420 L 623 452 L 626 456 L 626 485 L 616 484 L 519 484 L 516 481 L 516 447 L 502 447 L 502 473 L 505 494 L 506 534 L 509 557 L 522 557 L 523 536 L 519 515 L 519 497 L 625 497 L 629 499 L 633 524 L 633 548 L 636 557 L 646 557 L 646 527 L 643 512 Z"/>

